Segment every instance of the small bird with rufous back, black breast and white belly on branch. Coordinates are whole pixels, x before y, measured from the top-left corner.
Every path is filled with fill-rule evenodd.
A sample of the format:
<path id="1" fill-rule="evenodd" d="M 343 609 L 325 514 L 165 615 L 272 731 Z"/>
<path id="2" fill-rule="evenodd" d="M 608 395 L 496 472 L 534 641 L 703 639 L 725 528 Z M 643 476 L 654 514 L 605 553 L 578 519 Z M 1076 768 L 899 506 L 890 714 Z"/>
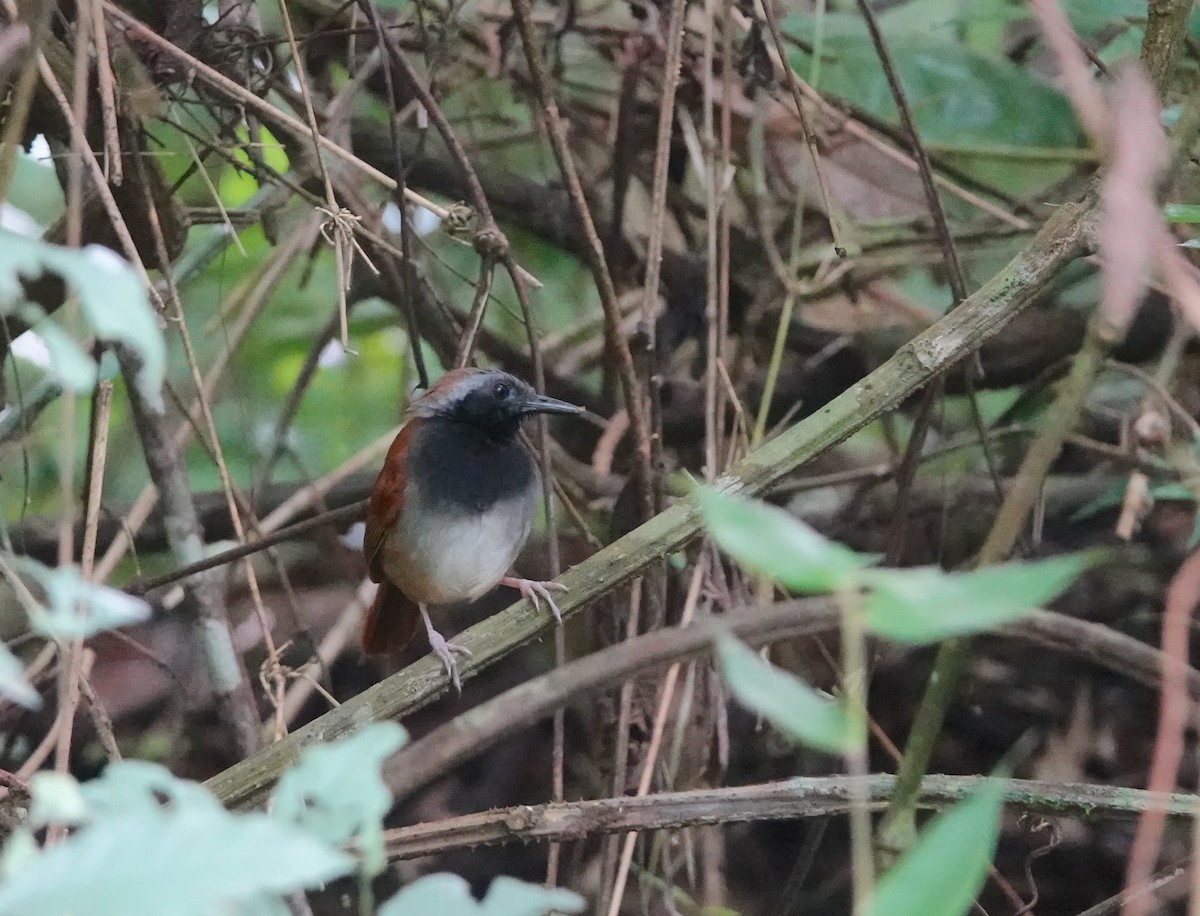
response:
<path id="1" fill-rule="evenodd" d="M 456 369 L 415 400 L 367 504 L 362 552 L 379 583 L 362 622 L 367 654 L 402 649 L 425 623 L 430 647 L 462 693 L 456 655 L 469 651 L 434 629 L 430 607 L 473 601 L 497 585 L 516 588 L 562 623 L 557 582 L 510 574 L 538 505 L 538 468 L 521 421 L 582 407 L 538 394 L 496 369 Z"/>

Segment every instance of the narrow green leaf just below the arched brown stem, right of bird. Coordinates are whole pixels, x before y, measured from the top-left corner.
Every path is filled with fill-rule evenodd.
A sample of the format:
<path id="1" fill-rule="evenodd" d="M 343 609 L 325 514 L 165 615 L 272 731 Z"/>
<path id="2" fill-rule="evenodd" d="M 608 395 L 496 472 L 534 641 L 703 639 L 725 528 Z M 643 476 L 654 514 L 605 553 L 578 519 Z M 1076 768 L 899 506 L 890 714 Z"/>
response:
<path id="1" fill-rule="evenodd" d="M 840 702 L 767 664 L 730 636 L 716 639 L 716 658 L 737 701 L 787 737 L 833 754 L 853 748 L 853 724 Z"/>

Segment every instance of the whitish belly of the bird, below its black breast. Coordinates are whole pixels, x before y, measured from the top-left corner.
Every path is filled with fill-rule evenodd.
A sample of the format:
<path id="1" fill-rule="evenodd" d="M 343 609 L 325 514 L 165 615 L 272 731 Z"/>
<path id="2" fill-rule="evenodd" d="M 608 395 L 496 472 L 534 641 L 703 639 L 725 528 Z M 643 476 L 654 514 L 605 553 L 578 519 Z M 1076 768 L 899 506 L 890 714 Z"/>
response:
<path id="1" fill-rule="evenodd" d="M 481 514 L 404 513 L 384 546 L 384 569 L 410 598 L 425 604 L 473 601 L 511 569 L 533 526 L 534 501 L 526 495 Z M 424 570 L 419 581 L 415 570 Z"/>

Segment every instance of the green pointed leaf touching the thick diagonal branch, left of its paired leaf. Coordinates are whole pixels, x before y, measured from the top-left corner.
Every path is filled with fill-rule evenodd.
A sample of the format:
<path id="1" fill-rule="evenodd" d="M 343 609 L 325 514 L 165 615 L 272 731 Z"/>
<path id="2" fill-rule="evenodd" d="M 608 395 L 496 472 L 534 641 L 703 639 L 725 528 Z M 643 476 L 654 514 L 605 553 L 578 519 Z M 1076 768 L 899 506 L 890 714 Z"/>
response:
<path id="1" fill-rule="evenodd" d="M 833 592 L 871 563 L 773 505 L 709 489 L 697 490 L 696 499 L 721 550 L 797 592 Z"/>

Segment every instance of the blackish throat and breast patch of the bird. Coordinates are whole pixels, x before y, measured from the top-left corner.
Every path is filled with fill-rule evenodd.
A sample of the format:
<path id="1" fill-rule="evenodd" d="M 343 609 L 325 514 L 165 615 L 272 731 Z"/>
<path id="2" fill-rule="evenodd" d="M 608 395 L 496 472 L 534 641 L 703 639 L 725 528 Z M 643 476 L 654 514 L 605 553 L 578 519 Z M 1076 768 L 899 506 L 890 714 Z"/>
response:
<path id="1" fill-rule="evenodd" d="M 517 438 L 520 425 L 520 417 L 503 429 L 431 417 L 409 442 L 409 480 L 421 481 L 424 498 L 457 513 L 482 513 L 533 493 L 536 471 Z"/>

